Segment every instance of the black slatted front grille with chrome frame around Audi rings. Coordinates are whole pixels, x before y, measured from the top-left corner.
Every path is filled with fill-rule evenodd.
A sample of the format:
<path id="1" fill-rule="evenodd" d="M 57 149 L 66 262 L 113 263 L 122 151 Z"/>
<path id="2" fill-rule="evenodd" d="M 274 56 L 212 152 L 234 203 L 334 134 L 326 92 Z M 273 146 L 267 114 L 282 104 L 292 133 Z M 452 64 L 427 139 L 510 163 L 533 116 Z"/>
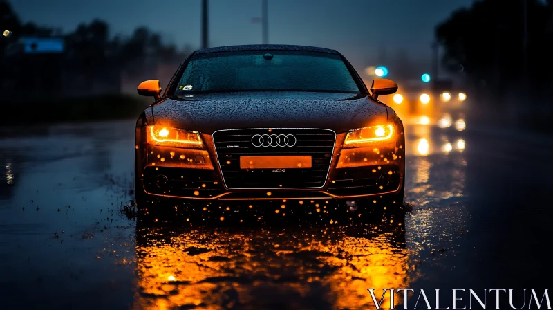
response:
<path id="1" fill-rule="evenodd" d="M 293 135 L 297 140 L 293 144 L 290 137 L 288 141 L 293 146 L 255 147 L 252 138 L 264 134 Z M 213 134 L 221 175 L 230 189 L 322 188 L 328 176 L 335 140 L 336 133 L 330 129 L 229 129 Z M 283 144 L 284 139 L 281 140 Z M 240 168 L 241 156 L 264 155 L 308 155 L 312 158 L 312 167 L 281 170 Z"/>

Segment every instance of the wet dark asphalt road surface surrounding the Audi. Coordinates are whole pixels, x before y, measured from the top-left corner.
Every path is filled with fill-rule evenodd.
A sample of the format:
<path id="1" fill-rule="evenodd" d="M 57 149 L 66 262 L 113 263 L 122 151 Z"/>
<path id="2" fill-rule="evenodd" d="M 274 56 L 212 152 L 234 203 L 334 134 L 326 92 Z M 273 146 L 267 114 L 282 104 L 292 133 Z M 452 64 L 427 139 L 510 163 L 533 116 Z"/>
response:
<path id="1" fill-rule="evenodd" d="M 368 288 L 550 288 L 552 138 L 408 125 L 411 210 L 393 217 L 275 201 L 156 222 L 129 206 L 133 127 L 0 129 L 0 309 L 374 309 Z"/>

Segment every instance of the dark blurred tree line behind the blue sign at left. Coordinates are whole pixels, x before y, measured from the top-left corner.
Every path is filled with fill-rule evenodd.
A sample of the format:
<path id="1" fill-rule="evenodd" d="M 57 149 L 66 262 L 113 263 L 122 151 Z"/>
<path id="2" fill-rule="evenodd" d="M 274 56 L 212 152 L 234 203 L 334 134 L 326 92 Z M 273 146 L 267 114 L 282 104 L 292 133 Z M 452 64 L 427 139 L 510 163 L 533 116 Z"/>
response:
<path id="1" fill-rule="evenodd" d="M 139 26 L 132 35 L 123 37 L 111 35 L 109 24 L 100 19 L 79 24 L 69 33 L 32 22 L 23 23 L 6 0 L 0 0 L 0 29 L 10 31 L 10 35 L 0 37 L 0 66 L 3 68 L 0 71 L 4 72 L 0 73 L 0 79 L 14 80 L 17 73 L 24 71 L 13 67 L 24 66 L 26 60 L 17 62 L 17 57 L 9 53 L 10 46 L 17 45 L 23 37 L 62 38 L 64 51 L 59 66 L 64 66 L 64 70 L 70 73 L 68 75 L 82 75 L 87 80 L 100 80 L 121 72 L 140 75 L 160 64 L 178 64 L 191 52 L 188 46 L 178 48 L 175 44 L 163 42 L 162 35 L 146 26 Z M 47 61 L 35 65 L 41 66 L 44 62 Z M 40 70 L 40 67 L 35 68 L 35 71 Z"/>

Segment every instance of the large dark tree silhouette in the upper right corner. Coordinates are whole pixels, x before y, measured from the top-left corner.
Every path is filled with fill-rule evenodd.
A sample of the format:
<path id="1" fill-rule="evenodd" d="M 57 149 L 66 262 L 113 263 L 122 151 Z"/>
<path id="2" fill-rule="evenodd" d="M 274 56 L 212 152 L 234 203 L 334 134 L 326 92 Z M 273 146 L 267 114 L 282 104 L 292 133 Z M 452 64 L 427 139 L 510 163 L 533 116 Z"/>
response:
<path id="1" fill-rule="evenodd" d="M 510 95 L 550 98 L 553 0 L 475 1 L 438 24 L 435 37 L 447 69 L 496 102 Z"/>

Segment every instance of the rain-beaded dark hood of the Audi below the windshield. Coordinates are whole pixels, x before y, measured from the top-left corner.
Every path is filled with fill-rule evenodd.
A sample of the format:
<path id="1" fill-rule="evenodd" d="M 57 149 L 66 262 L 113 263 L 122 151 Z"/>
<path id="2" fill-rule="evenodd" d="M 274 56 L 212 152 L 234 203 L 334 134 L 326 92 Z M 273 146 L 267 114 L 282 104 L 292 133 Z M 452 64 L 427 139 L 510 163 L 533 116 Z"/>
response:
<path id="1" fill-rule="evenodd" d="M 367 95 L 239 92 L 165 98 L 152 107 L 156 125 L 212 134 L 238 128 L 324 128 L 337 133 L 386 122 L 384 104 Z"/>

